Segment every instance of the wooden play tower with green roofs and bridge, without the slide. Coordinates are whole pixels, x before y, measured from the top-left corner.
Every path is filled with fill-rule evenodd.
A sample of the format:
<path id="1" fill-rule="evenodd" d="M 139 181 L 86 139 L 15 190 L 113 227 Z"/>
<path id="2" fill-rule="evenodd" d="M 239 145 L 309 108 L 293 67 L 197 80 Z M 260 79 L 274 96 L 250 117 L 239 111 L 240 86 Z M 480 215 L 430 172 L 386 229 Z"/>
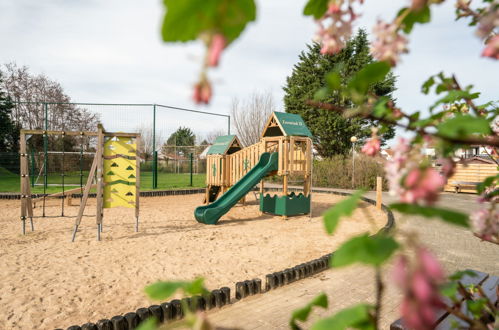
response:
<path id="1" fill-rule="evenodd" d="M 230 190 L 258 163 L 263 153 L 278 153 L 278 164 L 269 176 L 282 177 L 279 195 L 264 193 L 260 181 L 260 211 L 284 217 L 310 212 L 312 175 L 312 134 L 296 114 L 274 112 L 268 119 L 261 139 L 242 148 L 235 135 L 220 136 L 207 153 L 205 202 L 214 202 Z M 288 193 L 289 177 L 303 181 L 303 193 Z"/>

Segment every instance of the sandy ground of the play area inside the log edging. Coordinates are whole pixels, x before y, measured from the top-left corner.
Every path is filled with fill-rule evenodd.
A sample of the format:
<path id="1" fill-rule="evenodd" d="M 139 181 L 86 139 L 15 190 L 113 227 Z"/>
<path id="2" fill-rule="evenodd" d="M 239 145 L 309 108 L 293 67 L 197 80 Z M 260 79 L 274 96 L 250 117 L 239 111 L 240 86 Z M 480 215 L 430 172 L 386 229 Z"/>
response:
<path id="1" fill-rule="evenodd" d="M 246 206 L 208 226 L 194 220 L 201 198 L 143 198 L 139 233 L 133 209 L 107 209 L 102 241 L 96 241 L 95 218 L 86 217 L 75 243 L 70 242 L 74 217 L 36 218 L 35 232 L 22 236 L 19 201 L 0 201 L 0 328 L 65 328 L 133 311 L 152 304 L 142 289 L 160 279 L 203 276 L 209 289 L 232 288 L 236 281 L 322 256 L 386 222 L 384 213 L 362 204 L 328 237 L 319 215 L 343 197 L 316 194 L 316 217 L 284 221 L 261 216 L 250 194 Z M 94 203 L 89 200 L 86 214 L 95 214 Z M 65 212 L 75 215 L 77 209 Z M 46 212 L 60 210 L 60 201 L 51 201 Z"/>

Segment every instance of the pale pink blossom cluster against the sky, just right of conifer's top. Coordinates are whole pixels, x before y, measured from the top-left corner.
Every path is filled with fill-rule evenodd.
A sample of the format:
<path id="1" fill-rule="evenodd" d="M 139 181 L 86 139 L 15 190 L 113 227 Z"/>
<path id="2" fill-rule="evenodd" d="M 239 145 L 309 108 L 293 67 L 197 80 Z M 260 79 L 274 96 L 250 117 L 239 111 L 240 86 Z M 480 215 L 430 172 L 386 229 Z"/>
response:
<path id="1" fill-rule="evenodd" d="M 400 55 L 409 52 L 407 39 L 398 32 L 397 24 L 378 20 L 373 33 L 376 39 L 372 43 L 371 52 L 377 60 L 387 61 L 395 66 L 400 61 Z"/>

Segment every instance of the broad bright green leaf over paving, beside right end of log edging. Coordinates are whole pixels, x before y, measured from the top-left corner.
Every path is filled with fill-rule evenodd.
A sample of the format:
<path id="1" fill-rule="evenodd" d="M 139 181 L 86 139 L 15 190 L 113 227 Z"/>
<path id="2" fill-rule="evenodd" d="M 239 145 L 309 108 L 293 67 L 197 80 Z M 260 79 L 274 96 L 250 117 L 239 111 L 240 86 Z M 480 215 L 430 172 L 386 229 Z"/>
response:
<path id="1" fill-rule="evenodd" d="M 397 250 L 399 244 L 386 235 L 368 234 L 354 237 L 343 243 L 331 259 L 332 267 L 348 266 L 356 262 L 379 266 L 388 260 Z"/>

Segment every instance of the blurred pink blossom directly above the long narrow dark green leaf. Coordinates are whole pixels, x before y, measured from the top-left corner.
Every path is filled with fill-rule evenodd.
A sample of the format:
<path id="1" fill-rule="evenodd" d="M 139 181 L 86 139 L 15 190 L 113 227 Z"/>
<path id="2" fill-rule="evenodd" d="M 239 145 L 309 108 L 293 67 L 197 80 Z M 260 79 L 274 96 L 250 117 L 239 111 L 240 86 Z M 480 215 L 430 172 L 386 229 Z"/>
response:
<path id="1" fill-rule="evenodd" d="M 445 184 L 444 178 L 431 167 L 414 168 L 406 176 L 401 200 L 405 203 L 425 201 L 433 204 Z"/>

